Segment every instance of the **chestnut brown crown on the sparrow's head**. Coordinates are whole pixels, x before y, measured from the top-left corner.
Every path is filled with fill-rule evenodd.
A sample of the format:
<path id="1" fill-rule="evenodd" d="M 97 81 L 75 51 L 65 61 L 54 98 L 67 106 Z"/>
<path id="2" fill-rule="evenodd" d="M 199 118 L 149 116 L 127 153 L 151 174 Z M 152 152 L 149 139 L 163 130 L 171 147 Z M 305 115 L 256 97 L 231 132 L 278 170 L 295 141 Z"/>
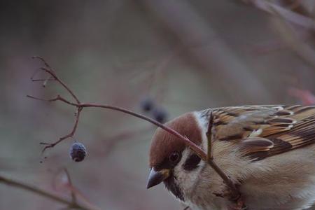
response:
<path id="1" fill-rule="evenodd" d="M 193 143 L 197 145 L 201 144 L 202 132 L 193 113 L 185 113 L 165 125 L 176 130 L 179 134 L 188 137 Z M 155 169 L 162 169 L 167 165 L 172 153 L 181 154 L 185 148 L 186 145 L 181 139 L 159 127 L 153 135 L 149 154 L 149 166 L 151 168 L 155 167 Z"/>

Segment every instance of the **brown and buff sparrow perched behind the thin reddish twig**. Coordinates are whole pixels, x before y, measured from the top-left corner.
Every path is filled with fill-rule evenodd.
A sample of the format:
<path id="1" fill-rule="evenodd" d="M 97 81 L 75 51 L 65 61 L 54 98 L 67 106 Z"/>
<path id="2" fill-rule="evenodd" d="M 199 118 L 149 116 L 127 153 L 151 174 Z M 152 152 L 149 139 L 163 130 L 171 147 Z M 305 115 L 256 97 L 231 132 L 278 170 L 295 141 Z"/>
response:
<path id="1" fill-rule="evenodd" d="M 307 209 L 315 202 L 315 106 L 230 106 L 185 113 L 166 123 L 207 153 L 213 116 L 214 161 L 248 209 Z M 164 183 L 190 209 L 232 209 L 228 186 L 183 141 L 158 128 L 147 188 Z"/>

